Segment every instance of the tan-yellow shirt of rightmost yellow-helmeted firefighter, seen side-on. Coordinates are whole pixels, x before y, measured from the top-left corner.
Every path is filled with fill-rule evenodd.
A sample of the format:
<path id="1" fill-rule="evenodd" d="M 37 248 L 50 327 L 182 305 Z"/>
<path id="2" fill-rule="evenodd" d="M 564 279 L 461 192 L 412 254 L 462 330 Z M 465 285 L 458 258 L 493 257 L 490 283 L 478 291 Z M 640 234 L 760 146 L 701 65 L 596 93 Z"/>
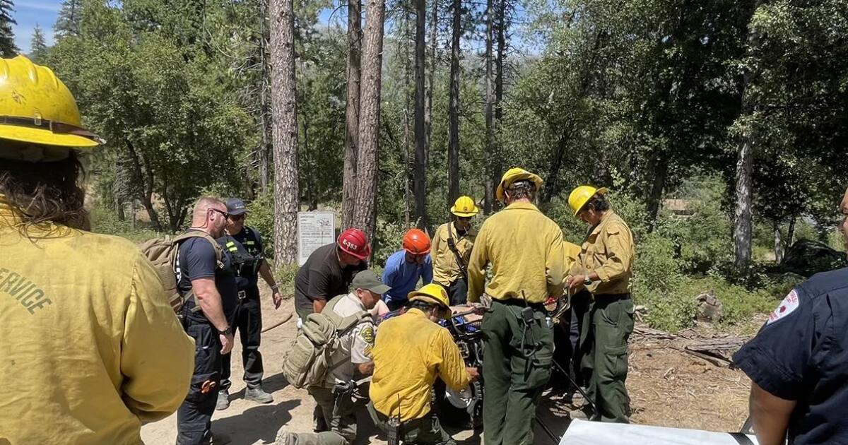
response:
<path id="1" fill-rule="evenodd" d="M 633 233 L 627 223 L 608 210 L 583 241 L 580 260 L 572 266 L 571 275 L 597 273 L 600 281 L 588 286 L 594 295 L 630 293 L 634 249 Z"/>

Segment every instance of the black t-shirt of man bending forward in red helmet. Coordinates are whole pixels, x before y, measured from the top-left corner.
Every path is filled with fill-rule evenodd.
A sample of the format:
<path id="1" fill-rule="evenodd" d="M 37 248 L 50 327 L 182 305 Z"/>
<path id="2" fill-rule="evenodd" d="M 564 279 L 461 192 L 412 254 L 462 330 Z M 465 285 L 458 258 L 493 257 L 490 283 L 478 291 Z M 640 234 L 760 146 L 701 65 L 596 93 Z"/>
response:
<path id="1" fill-rule="evenodd" d="M 300 309 L 312 309 L 315 298 L 326 298 L 329 301 L 337 295 L 348 293 L 350 281 L 356 272 L 367 268 L 365 261 L 342 268 L 338 264 L 335 243 L 317 248 L 294 279 L 294 305 Z"/>

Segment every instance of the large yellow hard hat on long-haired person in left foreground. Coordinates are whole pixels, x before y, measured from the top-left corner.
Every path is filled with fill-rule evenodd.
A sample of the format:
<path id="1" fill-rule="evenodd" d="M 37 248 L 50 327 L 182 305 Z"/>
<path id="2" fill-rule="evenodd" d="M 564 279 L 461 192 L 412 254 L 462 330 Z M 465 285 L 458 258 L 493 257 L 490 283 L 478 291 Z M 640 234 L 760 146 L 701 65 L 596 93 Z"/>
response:
<path id="1" fill-rule="evenodd" d="M 0 138 L 71 148 L 103 142 L 81 128 L 74 96 L 53 70 L 24 56 L 0 59 Z"/>

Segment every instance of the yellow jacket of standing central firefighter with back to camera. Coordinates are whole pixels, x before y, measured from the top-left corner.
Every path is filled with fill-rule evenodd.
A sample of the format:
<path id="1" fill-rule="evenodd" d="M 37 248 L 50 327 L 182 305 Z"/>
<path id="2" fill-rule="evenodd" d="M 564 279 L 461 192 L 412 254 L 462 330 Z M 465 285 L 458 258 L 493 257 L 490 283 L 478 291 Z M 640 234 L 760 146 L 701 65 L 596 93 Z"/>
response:
<path id="1" fill-rule="evenodd" d="M 485 292 L 494 299 L 543 303 L 549 296 L 559 297 L 565 258 L 560 227 L 532 203 L 512 203 L 489 217 L 477 234 L 468 265 L 468 301 L 480 301 L 489 263 L 493 276 Z"/>

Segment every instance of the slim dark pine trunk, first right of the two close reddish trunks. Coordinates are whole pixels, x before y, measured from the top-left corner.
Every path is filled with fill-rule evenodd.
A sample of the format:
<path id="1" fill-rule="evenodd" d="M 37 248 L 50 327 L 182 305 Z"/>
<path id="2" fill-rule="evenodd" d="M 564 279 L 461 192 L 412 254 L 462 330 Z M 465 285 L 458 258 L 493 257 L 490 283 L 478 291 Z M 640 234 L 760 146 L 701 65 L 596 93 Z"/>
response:
<path id="1" fill-rule="evenodd" d="M 426 2 L 416 4 L 416 165 L 413 185 L 416 196 L 416 220 L 423 228 L 427 226 L 427 136 L 424 126 L 424 27 Z"/>

